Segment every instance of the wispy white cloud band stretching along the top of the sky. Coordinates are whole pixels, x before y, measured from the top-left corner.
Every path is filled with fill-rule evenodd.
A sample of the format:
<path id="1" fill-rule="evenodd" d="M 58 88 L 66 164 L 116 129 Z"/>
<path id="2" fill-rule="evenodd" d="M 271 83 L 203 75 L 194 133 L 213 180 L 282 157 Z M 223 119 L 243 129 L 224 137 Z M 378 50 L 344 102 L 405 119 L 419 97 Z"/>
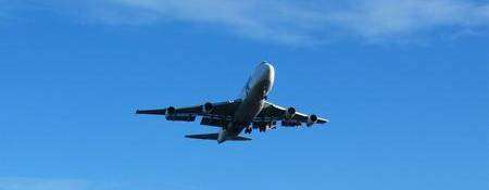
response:
<path id="1" fill-rule="evenodd" d="M 485 30 L 489 26 L 489 3 L 472 0 L 52 0 L 47 4 L 64 12 L 76 10 L 78 15 L 104 24 L 186 22 L 288 45 L 321 43 L 341 37 L 413 39 Z"/>

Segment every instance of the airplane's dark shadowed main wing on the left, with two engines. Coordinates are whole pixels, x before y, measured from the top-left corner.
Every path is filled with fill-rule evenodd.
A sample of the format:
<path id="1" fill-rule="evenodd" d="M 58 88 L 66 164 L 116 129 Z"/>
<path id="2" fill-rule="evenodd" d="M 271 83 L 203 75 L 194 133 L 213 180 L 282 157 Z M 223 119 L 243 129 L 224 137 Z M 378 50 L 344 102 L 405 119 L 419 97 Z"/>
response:
<path id="1" fill-rule="evenodd" d="M 204 103 L 202 105 L 185 106 L 185 107 L 173 107 L 168 106 L 166 109 L 155 109 L 155 110 L 137 110 L 136 114 L 148 114 L 148 115 L 164 115 L 168 121 L 180 121 L 180 122 L 193 122 L 197 116 L 202 116 L 202 125 L 208 122 L 221 122 L 230 121 L 234 116 L 235 111 L 241 103 L 240 100 L 217 102 L 217 103 Z"/>

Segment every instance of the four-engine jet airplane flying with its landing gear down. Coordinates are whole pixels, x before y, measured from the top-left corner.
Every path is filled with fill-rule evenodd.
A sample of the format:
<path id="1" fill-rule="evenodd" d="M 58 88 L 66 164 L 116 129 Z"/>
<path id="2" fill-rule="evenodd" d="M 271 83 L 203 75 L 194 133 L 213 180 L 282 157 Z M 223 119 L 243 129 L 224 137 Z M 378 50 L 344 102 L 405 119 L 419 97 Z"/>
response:
<path id="1" fill-rule="evenodd" d="M 263 61 L 254 69 L 244 85 L 240 98 L 231 101 L 201 105 L 158 110 L 137 110 L 136 114 L 164 115 L 167 121 L 195 122 L 202 117 L 200 124 L 220 127 L 217 134 L 187 135 L 186 138 L 225 141 L 248 141 L 250 138 L 239 136 L 242 130 L 251 134 L 253 129 L 264 132 L 275 129 L 277 122 L 284 127 L 299 127 L 305 124 L 326 124 L 329 121 L 315 114 L 299 113 L 294 107 L 285 109 L 267 100 L 275 81 L 274 66 Z"/>

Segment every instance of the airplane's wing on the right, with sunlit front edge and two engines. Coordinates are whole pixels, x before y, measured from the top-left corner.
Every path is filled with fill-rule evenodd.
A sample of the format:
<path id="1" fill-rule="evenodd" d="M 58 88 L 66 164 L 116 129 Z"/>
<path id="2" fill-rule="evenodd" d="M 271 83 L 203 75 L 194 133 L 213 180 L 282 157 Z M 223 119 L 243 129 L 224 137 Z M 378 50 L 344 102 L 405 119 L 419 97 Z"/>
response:
<path id="1" fill-rule="evenodd" d="M 280 121 L 281 125 L 286 127 L 301 126 L 302 124 L 311 126 L 313 124 L 326 124 L 329 122 L 328 119 L 318 117 L 317 115 L 306 115 L 297 112 L 293 107 L 285 109 L 271 102 L 265 102 L 264 109 L 255 117 L 253 123 L 275 123 L 277 121 Z"/>

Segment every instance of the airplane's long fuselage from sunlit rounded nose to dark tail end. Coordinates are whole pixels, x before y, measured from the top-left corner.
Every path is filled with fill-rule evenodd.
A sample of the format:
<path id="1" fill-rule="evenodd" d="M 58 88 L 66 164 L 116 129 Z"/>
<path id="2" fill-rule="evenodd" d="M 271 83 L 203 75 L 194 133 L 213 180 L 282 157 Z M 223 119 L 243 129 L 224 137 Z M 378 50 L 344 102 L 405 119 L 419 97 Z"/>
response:
<path id="1" fill-rule="evenodd" d="M 234 121 L 222 128 L 217 142 L 221 143 L 230 137 L 238 136 L 253 122 L 253 118 L 262 111 L 264 100 L 274 86 L 274 80 L 275 69 L 269 63 L 263 62 L 256 66 L 242 89 L 240 98 L 242 102 L 235 112 Z"/>

